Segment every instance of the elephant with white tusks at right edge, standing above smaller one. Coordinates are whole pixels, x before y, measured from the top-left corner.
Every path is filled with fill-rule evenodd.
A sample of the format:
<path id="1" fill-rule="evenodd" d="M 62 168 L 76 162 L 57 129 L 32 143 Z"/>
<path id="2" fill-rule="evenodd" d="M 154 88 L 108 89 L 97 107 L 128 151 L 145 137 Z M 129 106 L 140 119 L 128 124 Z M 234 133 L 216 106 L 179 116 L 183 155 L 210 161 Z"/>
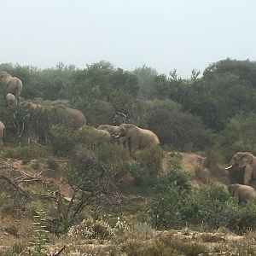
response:
<path id="1" fill-rule="evenodd" d="M 230 160 L 229 170 L 232 167 L 244 168 L 244 185 L 249 185 L 252 179 L 256 178 L 256 157 L 250 152 L 237 152 Z"/>

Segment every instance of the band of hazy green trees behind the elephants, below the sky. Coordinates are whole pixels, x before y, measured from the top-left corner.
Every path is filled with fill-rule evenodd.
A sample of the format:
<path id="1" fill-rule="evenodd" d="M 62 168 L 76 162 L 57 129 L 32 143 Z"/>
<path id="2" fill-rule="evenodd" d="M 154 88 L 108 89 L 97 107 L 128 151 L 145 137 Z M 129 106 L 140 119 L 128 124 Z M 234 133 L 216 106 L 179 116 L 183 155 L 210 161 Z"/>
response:
<path id="1" fill-rule="evenodd" d="M 89 125 L 112 125 L 116 113 L 125 113 L 126 122 L 153 130 L 162 145 L 177 150 L 213 148 L 227 158 L 236 151 L 256 153 L 254 61 L 218 61 L 203 73 L 192 70 L 190 79 L 146 66 L 125 71 L 107 61 L 84 69 L 8 63 L 0 70 L 22 80 L 23 98 L 67 100 Z"/>

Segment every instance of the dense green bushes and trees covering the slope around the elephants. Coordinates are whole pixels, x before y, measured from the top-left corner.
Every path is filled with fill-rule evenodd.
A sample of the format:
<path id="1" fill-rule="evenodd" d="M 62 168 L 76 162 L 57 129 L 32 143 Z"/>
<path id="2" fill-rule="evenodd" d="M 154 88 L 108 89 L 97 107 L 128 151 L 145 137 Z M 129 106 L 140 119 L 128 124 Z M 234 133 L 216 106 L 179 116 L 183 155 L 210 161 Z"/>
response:
<path id="1" fill-rule="evenodd" d="M 35 170 L 44 162 L 55 171 L 60 165 L 54 157 L 67 159 L 67 166 L 62 167 L 61 172 L 65 173 L 73 196 L 68 203 L 60 196 L 57 207 L 46 211 L 48 216 L 56 217 L 47 224 L 51 233 L 67 234 L 73 224 L 79 223 L 90 212 L 87 215 L 93 216 L 94 221 L 88 221 L 86 225 L 91 229 L 100 227 L 100 231 L 95 232 L 103 238 L 110 236 L 109 227 L 99 220 L 103 215 L 99 212 L 106 216 L 109 213 L 115 215 L 117 207 L 129 207 L 123 196 L 130 193 L 147 197 L 146 206 L 139 206 L 143 207 L 143 213 L 138 219 L 155 229 L 189 225 L 204 226 L 208 230 L 224 227 L 236 233 L 256 230 L 254 201 L 246 206 L 239 205 L 227 189 L 212 183 L 192 189 L 189 176 L 181 171 L 175 157 L 163 174 L 161 149 L 201 151 L 223 162 L 236 151 L 256 154 L 256 62 L 218 61 L 203 73 L 193 70 L 189 79 L 180 78 L 176 70 L 168 75 L 146 66 L 125 71 L 106 61 L 84 69 L 59 63 L 43 70 L 1 64 L 0 70 L 22 80 L 21 96 L 24 99 L 44 107 L 62 102 L 86 115 L 87 125 L 82 130 L 74 130 L 65 123 L 53 125 L 47 110 L 38 109 L 38 112 L 27 115 L 24 109 L 6 108 L 5 86 L 0 86 L 3 99 L 0 117 L 6 125 L 4 143 L 11 146 L 3 157 L 17 158 L 25 164 L 37 159 L 32 166 Z M 55 120 L 54 115 L 52 119 Z M 154 131 L 160 137 L 161 148 L 144 150 L 134 161 L 126 148 L 119 143 L 110 143 L 94 129 L 102 124 L 124 122 Z M 26 141 L 17 136 L 24 129 L 22 124 L 33 127 L 40 146 L 27 146 Z M 26 125 L 24 133 L 30 131 Z M 16 147 L 18 143 L 20 148 Z M 132 183 L 124 182 L 127 173 L 131 173 Z M 9 186 L 6 180 L 3 183 Z M 44 203 L 38 203 L 42 191 L 20 189 L 22 199 L 16 194 L 13 199 L 3 188 L 0 189 L 3 208 L 11 214 L 19 215 L 21 205 L 27 206 L 31 216 L 38 205 L 45 207 Z M 12 204 L 11 210 L 8 210 L 9 204 Z"/>

